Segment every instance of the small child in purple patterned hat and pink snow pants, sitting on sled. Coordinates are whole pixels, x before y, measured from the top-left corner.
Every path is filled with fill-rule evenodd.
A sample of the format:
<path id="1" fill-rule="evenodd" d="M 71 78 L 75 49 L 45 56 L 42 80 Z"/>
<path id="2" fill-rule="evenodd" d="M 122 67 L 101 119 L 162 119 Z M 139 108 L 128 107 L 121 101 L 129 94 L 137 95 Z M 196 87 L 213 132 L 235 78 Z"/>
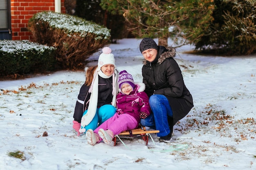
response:
<path id="1" fill-rule="evenodd" d="M 132 75 L 124 70 L 119 73 L 118 85 L 121 92 L 117 95 L 115 115 L 95 130 L 86 131 L 88 144 L 92 146 L 102 140 L 109 145 L 115 135 L 137 128 L 140 119 L 145 119 L 151 112 L 148 96 L 144 92 L 145 84 L 135 85 Z"/>

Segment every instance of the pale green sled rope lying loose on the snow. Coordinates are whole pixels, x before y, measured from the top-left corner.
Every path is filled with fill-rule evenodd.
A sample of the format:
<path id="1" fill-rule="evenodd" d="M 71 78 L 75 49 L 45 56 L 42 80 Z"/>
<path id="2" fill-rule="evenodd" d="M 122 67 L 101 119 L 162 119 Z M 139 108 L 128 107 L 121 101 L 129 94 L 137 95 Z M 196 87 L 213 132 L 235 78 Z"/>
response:
<path id="1" fill-rule="evenodd" d="M 153 141 L 153 144 L 155 145 L 155 141 L 153 140 L 152 136 L 151 136 L 149 133 L 147 133 L 147 135 L 150 136 L 150 138 L 151 138 L 152 141 Z M 127 149 L 131 150 L 130 148 L 128 148 L 128 147 L 126 146 L 126 144 L 124 143 L 124 141 L 122 141 L 118 135 L 115 135 L 115 136 L 121 141 L 121 143 L 122 143 Z M 172 151 L 176 151 L 176 150 L 185 150 L 185 149 L 187 149 L 187 148 L 189 148 L 189 146 L 188 146 L 187 144 L 177 144 L 177 145 L 174 145 L 174 146 L 170 146 L 169 149 L 164 149 L 164 150 L 149 149 L 149 150 L 150 150 L 150 151 L 153 151 L 153 152 L 172 152 Z M 139 150 L 131 150 L 131 151 L 139 151 Z M 141 151 L 142 151 L 142 150 L 141 150 Z"/>

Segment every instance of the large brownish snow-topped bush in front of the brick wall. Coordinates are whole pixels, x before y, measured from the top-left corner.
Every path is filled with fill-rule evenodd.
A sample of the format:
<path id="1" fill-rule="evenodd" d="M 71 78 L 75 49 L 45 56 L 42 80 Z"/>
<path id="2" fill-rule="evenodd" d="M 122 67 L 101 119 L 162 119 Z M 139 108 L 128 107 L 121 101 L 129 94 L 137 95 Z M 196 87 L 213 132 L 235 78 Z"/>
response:
<path id="1" fill-rule="evenodd" d="M 61 69 L 83 69 L 90 55 L 110 43 L 110 30 L 67 14 L 36 13 L 28 28 L 36 42 L 56 47 Z"/>

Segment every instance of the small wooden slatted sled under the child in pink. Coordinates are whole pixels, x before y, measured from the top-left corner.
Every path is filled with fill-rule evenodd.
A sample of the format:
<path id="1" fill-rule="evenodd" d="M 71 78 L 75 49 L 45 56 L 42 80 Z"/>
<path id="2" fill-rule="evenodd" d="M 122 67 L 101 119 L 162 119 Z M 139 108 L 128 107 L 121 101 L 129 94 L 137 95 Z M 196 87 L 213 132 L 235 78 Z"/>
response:
<path id="1" fill-rule="evenodd" d="M 116 146 L 117 137 L 126 138 L 126 139 L 142 137 L 142 139 L 145 141 L 145 144 L 148 145 L 149 133 L 159 133 L 159 130 L 146 130 L 145 126 L 139 125 L 139 127 L 136 129 L 126 130 L 126 131 L 121 132 L 119 135 L 115 135 L 115 137 L 113 139 L 114 146 Z"/>

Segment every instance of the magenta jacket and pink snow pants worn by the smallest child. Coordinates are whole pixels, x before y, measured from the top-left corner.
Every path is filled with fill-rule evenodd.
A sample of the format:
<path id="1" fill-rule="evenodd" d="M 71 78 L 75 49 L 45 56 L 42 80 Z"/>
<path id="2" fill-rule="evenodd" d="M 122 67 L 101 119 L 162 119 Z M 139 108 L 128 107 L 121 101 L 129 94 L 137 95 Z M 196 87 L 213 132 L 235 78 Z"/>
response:
<path id="1" fill-rule="evenodd" d="M 141 86 L 140 86 L 141 85 Z M 139 125 L 140 112 L 150 114 L 151 109 L 148 102 L 148 95 L 144 92 L 145 84 L 136 84 L 135 90 L 129 95 L 118 93 L 117 95 L 117 108 L 121 109 L 121 112 L 117 111 L 115 115 L 98 128 L 94 130 L 94 133 L 98 133 L 99 129 L 111 130 L 113 135 L 118 135 L 124 130 L 132 130 Z"/>

